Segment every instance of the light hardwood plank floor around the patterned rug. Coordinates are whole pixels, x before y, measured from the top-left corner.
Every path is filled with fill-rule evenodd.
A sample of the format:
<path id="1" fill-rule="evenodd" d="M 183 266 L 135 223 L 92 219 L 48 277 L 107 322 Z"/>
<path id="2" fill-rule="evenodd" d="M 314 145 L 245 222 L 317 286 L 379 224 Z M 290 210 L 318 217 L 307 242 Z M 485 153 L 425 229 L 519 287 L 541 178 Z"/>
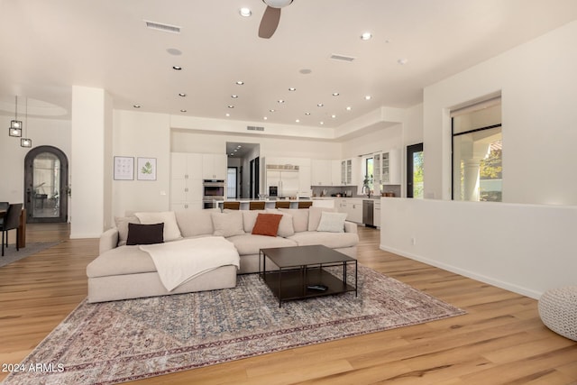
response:
<path id="1" fill-rule="evenodd" d="M 468 314 L 138 382 L 577 384 L 577 344 L 541 323 L 536 300 L 382 252 L 378 230 L 359 233 L 363 265 Z M 69 240 L 66 225 L 28 225 L 27 236 L 64 242 L 0 268 L 0 363 L 21 362 L 86 297 L 97 254 L 97 240 Z"/>

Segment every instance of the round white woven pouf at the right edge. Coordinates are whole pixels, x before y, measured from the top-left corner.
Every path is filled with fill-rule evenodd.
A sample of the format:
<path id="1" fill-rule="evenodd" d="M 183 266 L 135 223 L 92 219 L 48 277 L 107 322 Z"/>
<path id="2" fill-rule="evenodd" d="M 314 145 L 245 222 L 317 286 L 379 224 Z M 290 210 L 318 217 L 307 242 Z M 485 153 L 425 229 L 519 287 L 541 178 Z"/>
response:
<path id="1" fill-rule="evenodd" d="M 545 326 L 577 341 L 577 286 L 549 289 L 539 298 L 538 305 Z"/>

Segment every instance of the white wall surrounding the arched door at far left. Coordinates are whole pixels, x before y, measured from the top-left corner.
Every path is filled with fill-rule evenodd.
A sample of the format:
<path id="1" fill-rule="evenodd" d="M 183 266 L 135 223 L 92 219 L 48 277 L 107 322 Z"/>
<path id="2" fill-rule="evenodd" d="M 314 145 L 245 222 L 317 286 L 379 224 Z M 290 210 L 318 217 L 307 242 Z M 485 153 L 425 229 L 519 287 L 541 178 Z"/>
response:
<path id="1" fill-rule="evenodd" d="M 19 116 L 20 118 L 21 116 Z M 24 199 L 24 158 L 32 149 L 20 147 L 20 138 L 8 136 L 8 127 L 14 116 L 0 115 L 0 199 L 20 203 Z M 24 120 L 26 124 L 26 120 Z M 70 121 L 28 117 L 27 136 L 32 146 L 54 146 L 70 160 Z"/>

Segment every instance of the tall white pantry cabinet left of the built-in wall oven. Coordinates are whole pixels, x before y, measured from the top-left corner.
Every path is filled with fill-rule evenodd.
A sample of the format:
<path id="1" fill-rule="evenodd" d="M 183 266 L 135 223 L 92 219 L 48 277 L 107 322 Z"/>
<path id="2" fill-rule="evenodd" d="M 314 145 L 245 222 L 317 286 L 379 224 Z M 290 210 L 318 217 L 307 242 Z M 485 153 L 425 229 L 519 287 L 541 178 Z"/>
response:
<path id="1" fill-rule="evenodd" d="M 170 209 L 202 208 L 202 154 L 170 153 Z"/>

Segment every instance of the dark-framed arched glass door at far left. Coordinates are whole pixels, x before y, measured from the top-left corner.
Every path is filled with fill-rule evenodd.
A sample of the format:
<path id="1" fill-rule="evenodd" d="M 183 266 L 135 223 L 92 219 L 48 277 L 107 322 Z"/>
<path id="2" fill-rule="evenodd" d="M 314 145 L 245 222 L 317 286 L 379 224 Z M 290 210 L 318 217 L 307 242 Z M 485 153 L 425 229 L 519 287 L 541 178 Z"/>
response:
<path id="1" fill-rule="evenodd" d="M 39 146 L 24 158 L 26 222 L 67 222 L 69 160 L 56 147 Z"/>

